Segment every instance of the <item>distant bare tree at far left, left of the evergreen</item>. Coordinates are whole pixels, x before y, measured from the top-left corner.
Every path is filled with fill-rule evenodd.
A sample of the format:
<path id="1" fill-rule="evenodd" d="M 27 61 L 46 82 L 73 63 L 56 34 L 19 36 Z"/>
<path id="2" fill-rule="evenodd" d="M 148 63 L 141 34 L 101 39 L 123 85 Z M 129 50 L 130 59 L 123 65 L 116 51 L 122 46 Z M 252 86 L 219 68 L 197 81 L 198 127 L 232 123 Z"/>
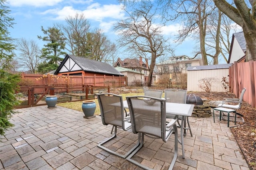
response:
<path id="1" fill-rule="evenodd" d="M 16 49 L 20 52 L 17 59 L 21 66 L 35 73 L 37 65 L 42 61 L 41 51 L 36 42 L 21 38 L 16 43 Z"/>

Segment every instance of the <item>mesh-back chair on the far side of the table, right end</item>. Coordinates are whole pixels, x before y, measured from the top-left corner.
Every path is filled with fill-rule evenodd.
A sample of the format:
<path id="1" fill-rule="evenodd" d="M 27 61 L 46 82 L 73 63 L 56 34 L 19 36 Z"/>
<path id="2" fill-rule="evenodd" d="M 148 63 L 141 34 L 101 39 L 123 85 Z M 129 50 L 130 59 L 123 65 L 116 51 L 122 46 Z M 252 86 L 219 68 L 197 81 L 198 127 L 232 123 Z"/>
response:
<path id="1" fill-rule="evenodd" d="M 180 89 L 170 89 L 170 90 L 164 90 L 164 98 L 166 102 L 170 103 L 181 103 L 181 104 L 186 104 L 186 97 L 187 97 L 187 90 L 180 90 Z M 178 118 L 179 120 L 182 119 L 181 116 L 174 115 L 173 117 L 167 117 L 167 118 L 172 118 L 176 119 Z M 188 123 L 188 127 L 186 127 L 186 121 Z M 179 126 L 181 126 L 181 123 L 178 121 Z M 188 121 L 188 117 L 184 118 L 184 135 L 186 135 L 186 130 L 190 131 L 190 135 L 192 135 L 192 131 L 190 128 L 190 124 Z"/>

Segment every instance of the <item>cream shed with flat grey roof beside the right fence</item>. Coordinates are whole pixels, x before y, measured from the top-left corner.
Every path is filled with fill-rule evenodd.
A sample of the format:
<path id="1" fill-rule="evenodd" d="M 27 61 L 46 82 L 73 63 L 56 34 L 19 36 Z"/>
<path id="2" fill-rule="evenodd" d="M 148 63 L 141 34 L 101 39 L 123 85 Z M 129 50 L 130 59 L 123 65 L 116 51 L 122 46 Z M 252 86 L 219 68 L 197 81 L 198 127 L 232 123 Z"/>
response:
<path id="1" fill-rule="evenodd" d="M 216 81 L 212 82 L 212 92 L 226 92 L 221 86 L 223 77 L 228 78 L 229 67 L 231 64 L 216 64 L 207 66 L 191 66 L 188 67 L 187 90 L 195 92 L 204 92 L 205 90 L 199 88 L 199 80 L 204 78 L 214 78 Z"/>

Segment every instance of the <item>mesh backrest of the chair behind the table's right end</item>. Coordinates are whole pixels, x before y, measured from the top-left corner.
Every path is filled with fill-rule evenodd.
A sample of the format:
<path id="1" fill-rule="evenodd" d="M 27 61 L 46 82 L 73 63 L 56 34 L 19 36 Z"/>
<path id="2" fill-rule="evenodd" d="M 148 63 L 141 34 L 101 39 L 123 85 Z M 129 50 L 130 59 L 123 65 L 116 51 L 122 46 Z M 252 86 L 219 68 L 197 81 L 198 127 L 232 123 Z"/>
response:
<path id="1" fill-rule="evenodd" d="M 187 90 L 164 90 L 164 98 L 166 102 L 186 104 Z"/>

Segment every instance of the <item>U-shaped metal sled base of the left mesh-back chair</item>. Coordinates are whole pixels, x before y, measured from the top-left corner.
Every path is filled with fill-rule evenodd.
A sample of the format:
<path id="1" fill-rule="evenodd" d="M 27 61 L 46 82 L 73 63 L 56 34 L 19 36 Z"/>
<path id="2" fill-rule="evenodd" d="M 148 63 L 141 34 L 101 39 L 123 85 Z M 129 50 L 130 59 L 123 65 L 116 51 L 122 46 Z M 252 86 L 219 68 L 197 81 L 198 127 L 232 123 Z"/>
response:
<path id="1" fill-rule="evenodd" d="M 119 156 L 119 157 L 125 159 L 133 150 L 135 150 L 135 149 L 140 145 L 140 143 L 137 143 L 132 149 L 130 149 L 130 150 L 129 150 L 126 154 L 124 154 L 124 155 L 119 154 L 119 153 L 117 153 L 117 152 L 114 152 L 113 150 L 110 150 L 110 149 L 104 147 L 104 146 L 103 146 L 104 143 L 107 143 L 108 141 L 110 141 L 111 139 L 114 139 L 114 138 L 116 137 L 117 126 L 114 126 L 114 125 L 113 125 L 113 128 L 114 128 L 114 127 L 115 127 L 115 133 L 114 133 L 114 135 L 112 135 L 112 137 L 110 137 L 110 138 L 107 138 L 107 139 L 101 141 L 97 146 L 98 146 L 99 148 L 101 148 L 101 149 L 103 149 L 103 150 L 105 150 L 105 151 L 111 153 L 111 154 L 114 154 L 114 155 L 116 155 L 116 156 Z M 112 128 L 112 130 L 113 130 L 113 128 Z M 140 135 L 139 135 L 139 137 L 140 137 Z"/>

